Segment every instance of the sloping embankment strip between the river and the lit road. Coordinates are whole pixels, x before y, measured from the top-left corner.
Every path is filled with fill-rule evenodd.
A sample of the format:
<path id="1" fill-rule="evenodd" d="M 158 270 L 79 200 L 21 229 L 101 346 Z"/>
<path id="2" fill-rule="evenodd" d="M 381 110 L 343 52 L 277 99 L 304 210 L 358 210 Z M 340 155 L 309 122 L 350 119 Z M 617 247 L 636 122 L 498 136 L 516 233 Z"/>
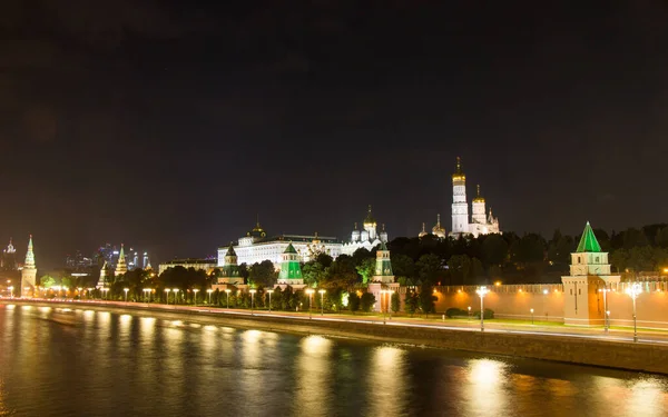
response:
<path id="1" fill-rule="evenodd" d="M 242 329 L 322 335 L 347 339 L 391 342 L 414 347 L 460 350 L 477 354 L 521 357 L 573 365 L 597 366 L 622 370 L 668 375 L 668 345 L 590 339 L 577 336 L 505 334 L 436 326 L 383 325 L 382 321 L 322 320 L 308 317 L 212 311 L 206 308 L 160 308 L 151 305 L 112 305 L 85 301 L 40 301 L 2 299 L 3 305 L 80 308 L 96 311 L 125 312 L 165 319 L 183 319 L 200 324 L 225 325 Z"/>

